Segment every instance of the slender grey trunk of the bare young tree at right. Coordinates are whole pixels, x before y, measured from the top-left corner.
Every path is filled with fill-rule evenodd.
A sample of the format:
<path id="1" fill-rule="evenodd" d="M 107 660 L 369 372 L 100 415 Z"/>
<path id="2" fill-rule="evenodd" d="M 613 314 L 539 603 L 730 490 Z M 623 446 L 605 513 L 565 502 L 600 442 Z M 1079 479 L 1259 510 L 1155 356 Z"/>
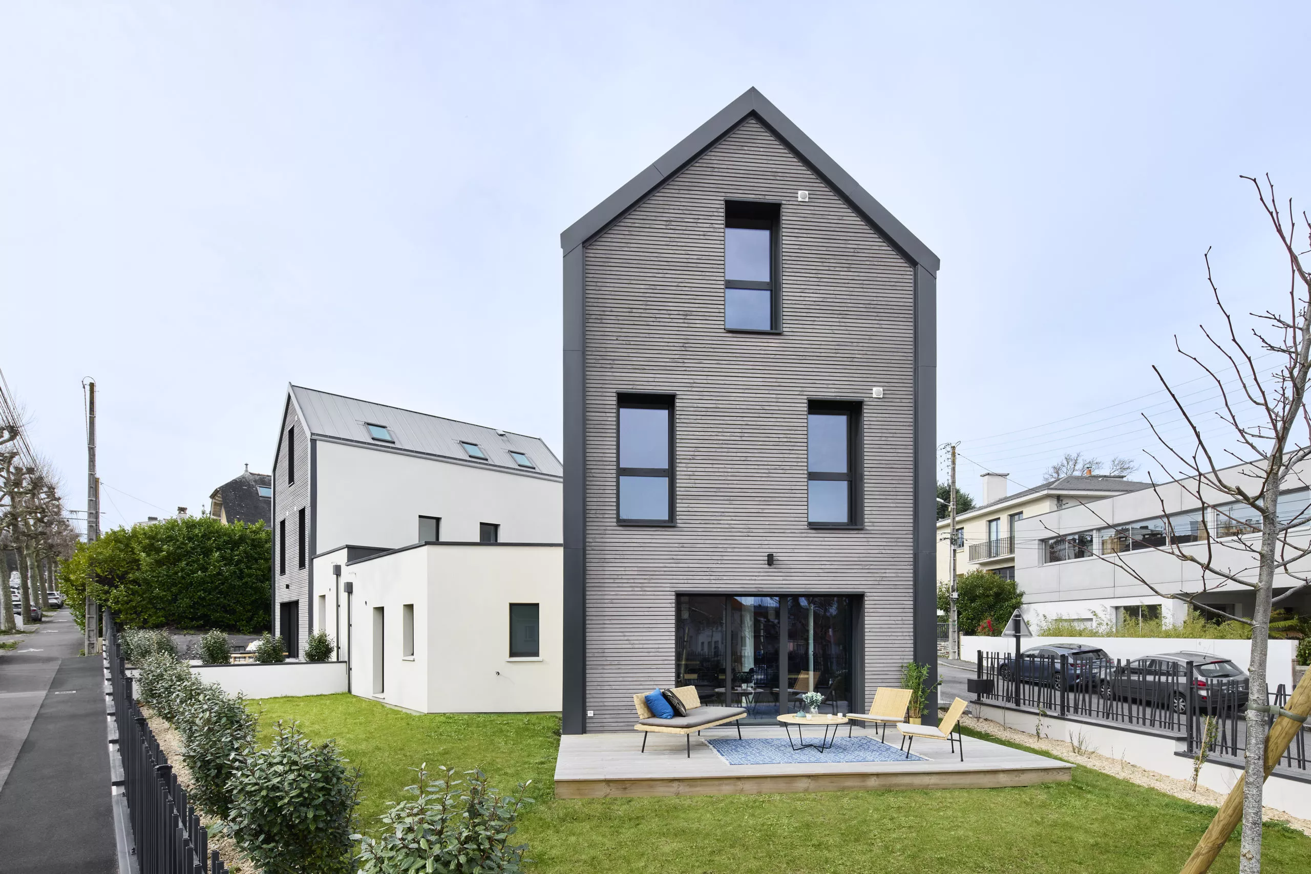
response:
<path id="1" fill-rule="evenodd" d="M 1270 641 L 1270 599 L 1274 586 L 1274 550 L 1278 546 L 1280 477 L 1282 459 L 1272 457 L 1270 476 L 1261 495 L 1261 566 L 1257 573 L 1256 609 L 1252 611 L 1252 651 L 1247 674 L 1248 704 L 1269 704 L 1266 694 L 1266 662 Z M 1247 712 L 1247 767 L 1243 772 L 1243 841 L 1239 845 L 1239 874 L 1261 871 L 1261 807 L 1265 790 L 1265 735 L 1268 725 L 1264 713 Z"/>

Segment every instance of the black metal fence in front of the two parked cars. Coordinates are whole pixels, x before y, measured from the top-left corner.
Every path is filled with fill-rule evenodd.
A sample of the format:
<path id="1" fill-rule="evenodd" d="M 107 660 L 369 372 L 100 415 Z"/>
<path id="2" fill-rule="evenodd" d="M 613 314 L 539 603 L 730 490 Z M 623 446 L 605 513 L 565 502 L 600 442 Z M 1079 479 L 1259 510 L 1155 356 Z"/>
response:
<path id="1" fill-rule="evenodd" d="M 1247 742 L 1247 677 L 1207 677 L 1192 662 L 1167 659 L 1087 659 L 1068 655 L 978 653 L 977 700 L 1032 710 L 1053 717 L 1082 717 L 1150 729 L 1186 740 L 1189 755 L 1205 744 L 1209 755 L 1242 759 Z M 1287 706 L 1289 692 L 1280 687 L 1269 702 Z M 1274 717 L 1268 717 L 1273 723 Z M 1307 767 L 1303 727 L 1278 767 Z"/>

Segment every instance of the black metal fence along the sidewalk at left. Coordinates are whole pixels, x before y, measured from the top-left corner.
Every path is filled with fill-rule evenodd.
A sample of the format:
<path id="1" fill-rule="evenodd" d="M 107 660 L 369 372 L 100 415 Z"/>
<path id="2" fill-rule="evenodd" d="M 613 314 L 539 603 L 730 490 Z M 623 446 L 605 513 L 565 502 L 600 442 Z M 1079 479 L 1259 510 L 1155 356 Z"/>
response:
<path id="1" fill-rule="evenodd" d="M 225 874 L 218 850 L 186 799 L 173 767 L 132 700 L 132 681 L 118 651 L 118 625 L 105 611 L 105 651 L 123 757 L 123 793 L 140 874 Z"/>

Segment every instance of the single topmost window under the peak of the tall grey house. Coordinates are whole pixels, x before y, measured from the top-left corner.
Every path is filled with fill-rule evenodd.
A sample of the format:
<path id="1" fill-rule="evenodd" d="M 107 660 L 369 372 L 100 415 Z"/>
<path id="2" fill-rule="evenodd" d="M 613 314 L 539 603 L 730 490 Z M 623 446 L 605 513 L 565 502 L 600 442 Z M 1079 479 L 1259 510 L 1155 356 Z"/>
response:
<path id="1" fill-rule="evenodd" d="M 724 328 L 779 330 L 779 204 L 724 204 Z"/>

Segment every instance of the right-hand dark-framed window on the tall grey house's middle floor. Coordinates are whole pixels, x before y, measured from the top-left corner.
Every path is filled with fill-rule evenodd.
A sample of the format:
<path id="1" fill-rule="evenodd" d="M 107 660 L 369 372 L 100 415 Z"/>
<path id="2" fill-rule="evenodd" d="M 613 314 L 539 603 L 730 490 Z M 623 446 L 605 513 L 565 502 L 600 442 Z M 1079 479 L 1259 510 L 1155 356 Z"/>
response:
<path id="1" fill-rule="evenodd" d="M 859 406 L 812 401 L 806 419 L 808 520 L 819 528 L 856 525 Z"/>

